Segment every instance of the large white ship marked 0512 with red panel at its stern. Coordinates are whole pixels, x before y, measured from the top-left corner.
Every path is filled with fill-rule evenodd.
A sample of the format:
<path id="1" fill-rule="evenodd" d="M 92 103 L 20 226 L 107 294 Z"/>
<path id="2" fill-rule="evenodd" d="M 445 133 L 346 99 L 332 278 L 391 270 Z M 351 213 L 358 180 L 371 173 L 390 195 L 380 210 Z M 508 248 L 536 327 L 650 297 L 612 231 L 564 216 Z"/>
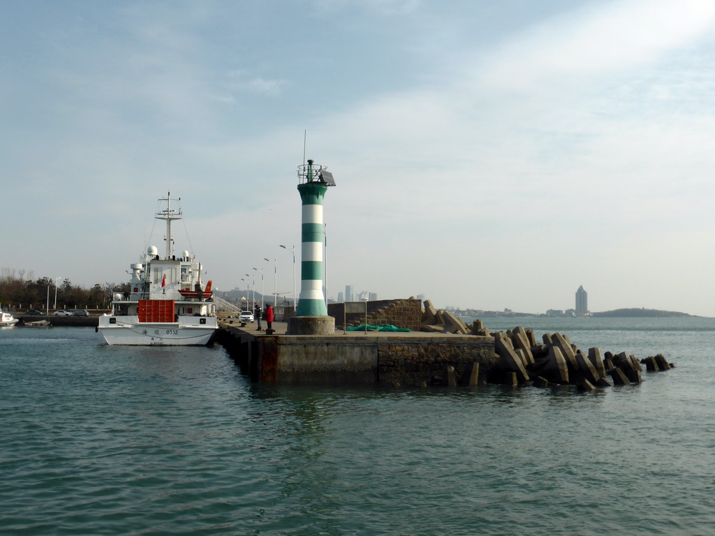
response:
<path id="1" fill-rule="evenodd" d="M 112 313 L 99 317 L 107 344 L 138 346 L 202 346 L 217 329 L 216 304 L 211 281 L 202 287 L 202 266 L 194 255 L 174 253 L 172 221 L 182 218 L 181 207 L 172 208 L 170 194 L 160 202 L 167 208 L 155 218 L 167 223 L 166 252 L 160 257 L 151 246 L 140 262 L 131 265 L 129 292 L 115 292 Z"/>

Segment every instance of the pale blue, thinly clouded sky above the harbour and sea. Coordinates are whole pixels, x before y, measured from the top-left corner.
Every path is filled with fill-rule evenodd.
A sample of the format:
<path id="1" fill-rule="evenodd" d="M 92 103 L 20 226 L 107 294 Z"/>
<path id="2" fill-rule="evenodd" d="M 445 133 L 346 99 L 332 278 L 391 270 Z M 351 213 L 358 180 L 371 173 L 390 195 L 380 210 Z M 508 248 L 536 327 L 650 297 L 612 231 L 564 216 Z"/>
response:
<path id="1" fill-rule="evenodd" d="M 3 269 L 124 282 L 171 192 L 290 296 L 305 157 L 332 299 L 715 316 L 710 0 L 0 0 L 0 45 Z"/>

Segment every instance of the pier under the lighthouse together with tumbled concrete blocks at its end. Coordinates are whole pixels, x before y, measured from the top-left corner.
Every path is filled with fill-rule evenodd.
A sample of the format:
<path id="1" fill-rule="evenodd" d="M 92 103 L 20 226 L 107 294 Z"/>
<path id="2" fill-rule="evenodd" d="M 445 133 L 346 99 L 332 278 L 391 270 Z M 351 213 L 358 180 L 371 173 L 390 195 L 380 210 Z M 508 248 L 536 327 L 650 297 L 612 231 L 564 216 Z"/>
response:
<path id="1" fill-rule="evenodd" d="M 532 329 L 494 332 L 475 322 L 472 334 L 350 331 L 325 335 L 286 333 L 274 322 L 272 334 L 251 324 L 217 332 L 242 372 L 255 382 L 300 384 L 384 384 L 395 387 L 485 385 L 547 387 L 573 385 L 583 392 L 643 381 L 649 372 L 675 365 L 658 354 L 638 359 L 628 352 L 601 358 L 598 348 L 582 352 L 564 334 Z M 610 379 L 609 379 L 610 377 Z"/>

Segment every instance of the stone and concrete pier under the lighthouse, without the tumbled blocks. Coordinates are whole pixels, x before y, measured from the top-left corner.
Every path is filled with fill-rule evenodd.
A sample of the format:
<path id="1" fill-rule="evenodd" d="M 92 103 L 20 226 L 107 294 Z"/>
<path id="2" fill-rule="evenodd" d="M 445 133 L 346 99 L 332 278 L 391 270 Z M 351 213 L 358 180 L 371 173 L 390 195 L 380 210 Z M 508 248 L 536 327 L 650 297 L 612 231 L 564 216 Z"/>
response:
<path id="1" fill-rule="evenodd" d="M 226 324 L 217 342 L 256 382 L 419 386 L 449 379 L 468 385 L 478 381 L 475 364 L 489 369 L 495 363 L 492 337 L 425 332 L 289 335 L 285 322 L 273 322 L 274 333 L 266 335 L 255 326 Z"/>

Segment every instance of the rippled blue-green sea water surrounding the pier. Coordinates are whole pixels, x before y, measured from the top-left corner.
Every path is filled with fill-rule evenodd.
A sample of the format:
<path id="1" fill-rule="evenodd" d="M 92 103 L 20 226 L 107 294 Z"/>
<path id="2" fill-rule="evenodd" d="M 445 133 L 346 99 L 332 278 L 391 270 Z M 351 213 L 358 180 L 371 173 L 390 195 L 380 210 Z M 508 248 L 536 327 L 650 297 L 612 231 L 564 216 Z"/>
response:
<path id="1" fill-rule="evenodd" d="M 0 330 L 2 535 L 711 535 L 715 319 L 485 319 L 642 384 L 252 384 L 220 346 Z"/>

